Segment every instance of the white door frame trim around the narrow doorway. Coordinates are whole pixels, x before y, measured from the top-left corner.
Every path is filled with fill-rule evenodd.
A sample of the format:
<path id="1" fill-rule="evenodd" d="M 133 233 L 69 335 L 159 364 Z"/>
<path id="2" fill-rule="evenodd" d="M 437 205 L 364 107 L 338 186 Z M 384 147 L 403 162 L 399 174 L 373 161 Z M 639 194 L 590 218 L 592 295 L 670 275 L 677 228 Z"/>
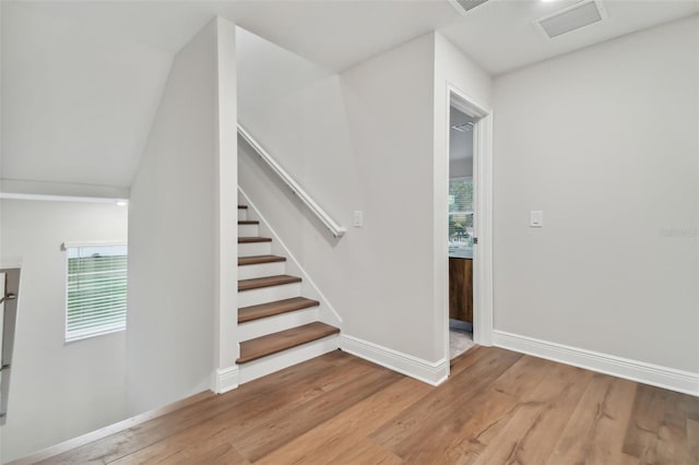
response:
<path id="1" fill-rule="evenodd" d="M 453 106 L 460 111 L 476 118 L 473 127 L 473 182 L 474 182 L 474 230 L 478 243 L 473 248 L 473 338 L 482 346 L 493 345 L 493 110 L 475 103 L 465 93 L 453 84 L 447 83 L 447 111 Z M 449 165 L 449 129 L 450 118 L 447 116 L 447 124 L 441 129 L 446 138 L 446 153 L 438 154 L 446 158 Z M 436 190 L 436 195 L 442 190 Z M 447 189 L 443 199 L 436 199 L 437 204 L 449 204 L 449 191 Z M 447 225 L 447 217 L 435 215 L 436 220 Z M 437 225 L 435 225 L 437 226 Z M 435 230 L 440 228 L 436 227 Z M 446 242 L 448 233 L 442 237 Z M 448 266 L 448 264 L 447 264 Z M 447 275 L 448 276 L 448 275 Z M 449 359 L 449 279 L 441 283 L 437 289 L 443 293 L 446 308 L 440 309 L 447 318 L 446 357 Z"/>

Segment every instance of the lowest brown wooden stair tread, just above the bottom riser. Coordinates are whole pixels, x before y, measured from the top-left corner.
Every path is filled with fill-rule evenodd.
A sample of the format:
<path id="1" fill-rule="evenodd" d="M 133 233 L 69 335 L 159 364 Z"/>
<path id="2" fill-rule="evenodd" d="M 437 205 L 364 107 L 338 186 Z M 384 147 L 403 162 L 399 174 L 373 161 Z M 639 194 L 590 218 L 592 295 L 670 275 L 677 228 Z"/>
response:
<path id="1" fill-rule="evenodd" d="M 240 357 L 236 360 L 236 363 L 257 360 L 258 358 L 277 354 L 292 347 L 318 341 L 332 334 L 337 334 L 339 332 L 340 329 L 317 321 L 315 323 L 308 323 L 301 326 L 292 327 L 291 330 L 280 331 L 279 333 L 245 341 L 240 343 Z"/>

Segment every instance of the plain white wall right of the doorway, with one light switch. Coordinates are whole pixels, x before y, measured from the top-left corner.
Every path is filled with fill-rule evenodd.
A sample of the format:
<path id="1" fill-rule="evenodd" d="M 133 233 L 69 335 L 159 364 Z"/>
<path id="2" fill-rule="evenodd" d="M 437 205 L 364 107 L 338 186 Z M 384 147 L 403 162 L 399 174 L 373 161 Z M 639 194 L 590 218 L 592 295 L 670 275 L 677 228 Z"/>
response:
<path id="1" fill-rule="evenodd" d="M 496 330 L 699 372 L 698 93 L 697 16 L 495 81 Z"/>

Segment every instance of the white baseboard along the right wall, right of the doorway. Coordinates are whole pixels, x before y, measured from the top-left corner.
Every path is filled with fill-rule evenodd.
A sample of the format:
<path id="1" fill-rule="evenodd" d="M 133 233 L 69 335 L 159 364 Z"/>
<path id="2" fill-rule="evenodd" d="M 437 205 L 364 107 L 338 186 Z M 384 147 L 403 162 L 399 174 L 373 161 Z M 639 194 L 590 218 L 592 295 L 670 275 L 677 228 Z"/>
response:
<path id="1" fill-rule="evenodd" d="M 522 354 L 699 396 L 699 373 L 645 363 L 505 331 L 493 332 L 493 344 Z"/>

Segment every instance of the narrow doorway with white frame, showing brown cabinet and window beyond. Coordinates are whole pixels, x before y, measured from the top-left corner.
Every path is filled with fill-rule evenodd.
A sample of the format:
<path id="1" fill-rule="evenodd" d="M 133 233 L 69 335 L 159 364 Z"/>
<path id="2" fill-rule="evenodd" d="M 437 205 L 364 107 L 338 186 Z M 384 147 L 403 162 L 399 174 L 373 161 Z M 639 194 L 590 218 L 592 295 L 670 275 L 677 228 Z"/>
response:
<path id="1" fill-rule="evenodd" d="M 491 111 L 474 104 L 459 90 L 449 88 L 446 128 L 449 157 L 449 188 L 446 233 L 449 243 L 449 279 L 442 289 L 449 298 L 445 308 L 447 341 L 461 332 L 459 355 L 473 344 L 490 345 L 493 332 L 491 245 Z M 455 317 L 455 318 L 451 318 Z M 450 331 L 450 326 L 451 330 Z M 455 331 L 453 331 L 455 330 Z M 464 345 L 466 347 L 464 347 Z"/>

